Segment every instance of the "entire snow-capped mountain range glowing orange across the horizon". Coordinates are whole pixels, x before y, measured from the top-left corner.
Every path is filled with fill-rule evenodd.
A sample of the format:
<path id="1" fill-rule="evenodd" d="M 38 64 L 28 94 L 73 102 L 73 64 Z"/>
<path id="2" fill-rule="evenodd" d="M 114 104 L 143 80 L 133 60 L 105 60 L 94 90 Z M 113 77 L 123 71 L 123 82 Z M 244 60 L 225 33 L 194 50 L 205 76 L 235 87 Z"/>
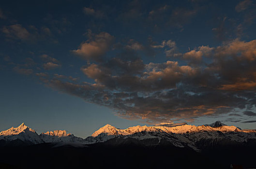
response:
<path id="1" fill-rule="evenodd" d="M 35 130 L 22 123 L 0 132 L 0 146 L 20 146 L 40 143 L 86 146 L 96 143 L 111 145 L 139 144 L 156 146 L 166 144 L 179 148 L 190 148 L 196 152 L 214 145 L 246 145 L 256 142 L 256 130 L 241 130 L 220 121 L 202 126 L 185 123 L 164 123 L 156 126 L 134 126 L 119 129 L 111 125 L 99 128 L 91 136 L 82 139 L 65 130 L 54 130 L 38 135 Z"/>

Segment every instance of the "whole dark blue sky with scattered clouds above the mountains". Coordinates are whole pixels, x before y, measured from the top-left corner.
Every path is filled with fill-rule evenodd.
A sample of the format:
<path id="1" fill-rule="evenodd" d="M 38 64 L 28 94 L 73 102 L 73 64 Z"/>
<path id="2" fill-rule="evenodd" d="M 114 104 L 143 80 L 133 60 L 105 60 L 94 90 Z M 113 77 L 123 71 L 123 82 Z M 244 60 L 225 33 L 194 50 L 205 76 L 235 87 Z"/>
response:
<path id="1" fill-rule="evenodd" d="M 255 0 L 0 2 L 0 130 L 256 128 Z"/>

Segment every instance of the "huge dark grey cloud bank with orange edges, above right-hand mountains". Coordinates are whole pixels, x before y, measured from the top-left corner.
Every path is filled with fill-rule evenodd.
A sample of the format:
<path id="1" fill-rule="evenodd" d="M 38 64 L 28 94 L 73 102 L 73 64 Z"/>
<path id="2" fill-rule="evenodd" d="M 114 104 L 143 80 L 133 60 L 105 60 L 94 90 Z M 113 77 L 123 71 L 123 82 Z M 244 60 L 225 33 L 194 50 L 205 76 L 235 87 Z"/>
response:
<path id="1" fill-rule="evenodd" d="M 133 44 L 135 40 L 127 45 Z M 158 48 L 162 50 L 176 46 L 173 41 L 163 41 L 160 45 L 164 46 Z M 192 56 L 182 57 L 180 64 L 173 60 L 144 63 L 139 57 L 117 55 L 105 61 L 88 62 L 80 68 L 93 83 L 70 82 L 56 76 L 46 84 L 109 107 L 122 118 L 148 123 L 232 115 L 256 106 L 255 88 L 237 86 L 256 82 L 255 49 L 256 40 L 199 46 L 194 51 L 202 53 L 201 61 L 191 65 L 186 63 L 191 62 Z"/>

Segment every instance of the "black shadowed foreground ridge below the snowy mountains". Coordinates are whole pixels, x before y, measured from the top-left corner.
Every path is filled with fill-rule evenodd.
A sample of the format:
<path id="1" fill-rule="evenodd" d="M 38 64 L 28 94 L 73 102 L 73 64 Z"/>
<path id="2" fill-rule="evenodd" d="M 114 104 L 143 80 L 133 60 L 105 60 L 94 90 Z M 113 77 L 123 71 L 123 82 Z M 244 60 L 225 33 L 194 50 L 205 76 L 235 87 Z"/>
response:
<path id="1" fill-rule="evenodd" d="M 150 140 L 148 140 L 150 141 Z M 144 146 L 134 139 L 115 145 L 118 138 L 84 147 L 56 146 L 41 143 L 29 146 L 0 148 L 1 169 L 60 169 L 60 168 L 162 168 L 228 169 L 231 164 L 244 168 L 256 167 L 256 144 L 247 146 L 215 145 L 200 153 L 178 148 L 167 142 Z M 151 140 L 153 143 L 154 140 Z"/>

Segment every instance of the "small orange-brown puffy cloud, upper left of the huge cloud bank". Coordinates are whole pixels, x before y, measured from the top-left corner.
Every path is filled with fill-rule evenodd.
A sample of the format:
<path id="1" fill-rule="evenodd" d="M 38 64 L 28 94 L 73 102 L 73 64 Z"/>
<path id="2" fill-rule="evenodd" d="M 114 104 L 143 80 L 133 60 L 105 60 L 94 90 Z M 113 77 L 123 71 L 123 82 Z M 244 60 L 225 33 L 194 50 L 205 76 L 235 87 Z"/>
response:
<path id="1" fill-rule="evenodd" d="M 79 48 L 72 52 L 87 60 L 101 60 L 102 56 L 110 49 L 114 37 L 107 32 L 91 34 L 88 32 L 89 40 L 80 44 Z"/>

